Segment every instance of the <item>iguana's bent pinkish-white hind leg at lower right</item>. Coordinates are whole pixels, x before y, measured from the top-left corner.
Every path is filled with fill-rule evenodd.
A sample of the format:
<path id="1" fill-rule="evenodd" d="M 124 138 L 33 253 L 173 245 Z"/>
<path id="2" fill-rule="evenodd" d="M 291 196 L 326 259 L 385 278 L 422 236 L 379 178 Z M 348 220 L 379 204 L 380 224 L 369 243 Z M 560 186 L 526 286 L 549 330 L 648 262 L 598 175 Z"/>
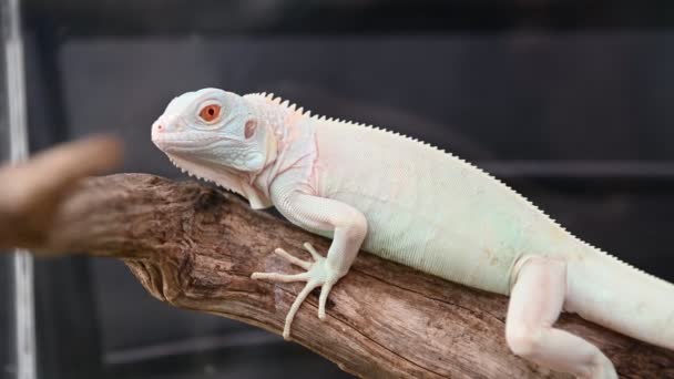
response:
<path id="1" fill-rule="evenodd" d="M 506 340 L 518 356 L 579 378 L 617 378 L 599 348 L 553 328 L 566 298 L 566 264 L 540 256 L 523 263 L 510 295 Z"/>

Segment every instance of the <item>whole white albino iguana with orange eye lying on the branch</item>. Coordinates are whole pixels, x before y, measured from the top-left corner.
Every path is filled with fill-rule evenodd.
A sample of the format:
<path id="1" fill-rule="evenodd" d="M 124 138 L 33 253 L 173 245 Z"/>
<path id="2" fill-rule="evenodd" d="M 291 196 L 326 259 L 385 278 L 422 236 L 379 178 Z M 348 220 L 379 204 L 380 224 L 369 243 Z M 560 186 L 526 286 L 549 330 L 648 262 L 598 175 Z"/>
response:
<path id="1" fill-rule="evenodd" d="M 191 174 L 275 206 L 333 239 L 314 262 L 276 253 L 306 273 L 254 279 L 333 286 L 362 249 L 428 274 L 509 295 L 506 339 L 541 366 L 581 378 L 616 378 L 592 344 L 553 328 L 562 310 L 674 349 L 674 286 L 574 237 L 524 197 L 464 161 L 382 129 L 312 116 L 265 94 L 203 89 L 175 98 L 152 140 Z"/>

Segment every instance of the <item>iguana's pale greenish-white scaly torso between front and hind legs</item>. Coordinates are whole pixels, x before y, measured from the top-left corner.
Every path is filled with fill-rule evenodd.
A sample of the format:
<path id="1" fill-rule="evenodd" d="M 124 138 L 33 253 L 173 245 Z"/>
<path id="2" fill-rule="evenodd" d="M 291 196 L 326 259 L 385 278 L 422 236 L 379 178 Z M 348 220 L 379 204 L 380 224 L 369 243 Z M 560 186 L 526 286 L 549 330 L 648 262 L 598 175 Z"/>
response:
<path id="1" fill-rule="evenodd" d="M 456 156 L 384 130 L 304 122 L 316 133 L 318 194 L 366 215 L 367 252 L 508 294 L 520 256 L 582 250 L 524 197 Z"/>

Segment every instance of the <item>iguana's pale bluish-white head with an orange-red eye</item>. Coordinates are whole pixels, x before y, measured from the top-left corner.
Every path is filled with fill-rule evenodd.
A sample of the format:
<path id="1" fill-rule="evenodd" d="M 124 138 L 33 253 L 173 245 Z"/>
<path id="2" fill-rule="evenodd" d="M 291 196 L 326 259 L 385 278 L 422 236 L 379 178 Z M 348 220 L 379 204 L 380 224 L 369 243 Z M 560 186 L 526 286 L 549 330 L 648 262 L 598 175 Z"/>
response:
<path id="1" fill-rule="evenodd" d="M 242 194 L 254 208 L 270 204 L 252 183 L 276 157 L 276 140 L 244 98 L 218 89 L 184 93 L 152 124 L 152 141 L 181 170 Z"/>

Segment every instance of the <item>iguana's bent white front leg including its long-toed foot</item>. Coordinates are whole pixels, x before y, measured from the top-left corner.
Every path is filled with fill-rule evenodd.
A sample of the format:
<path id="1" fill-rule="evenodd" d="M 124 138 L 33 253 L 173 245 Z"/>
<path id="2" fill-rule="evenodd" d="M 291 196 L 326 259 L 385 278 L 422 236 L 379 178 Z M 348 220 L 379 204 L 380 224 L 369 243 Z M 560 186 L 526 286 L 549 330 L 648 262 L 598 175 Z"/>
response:
<path id="1" fill-rule="evenodd" d="M 288 339 L 295 314 L 309 293 L 317 287 L 321 287 L 318 317 L 325 318 L 325 305 L 330 289 L 351 267 L 367 234 L 367 221 L 362 213 L 345 203 L 294 191 L 287 195 L 285 193 L 282 191 L 280 195 L 275 196 L 274 204 L 290 222 L 308 229 L 334 232 L 333 244 L 325 258 L 312 245 L 305 244 L 305 248 L 314 258 L 313 263 L 296 258 L 283 249 L 276 249 L 276 254 L 306 269 L 306 273 L 296 275 L 254 273 L 251 276 L 253 279 L 307 283 L 286 316 L 283 337 Z"/>

